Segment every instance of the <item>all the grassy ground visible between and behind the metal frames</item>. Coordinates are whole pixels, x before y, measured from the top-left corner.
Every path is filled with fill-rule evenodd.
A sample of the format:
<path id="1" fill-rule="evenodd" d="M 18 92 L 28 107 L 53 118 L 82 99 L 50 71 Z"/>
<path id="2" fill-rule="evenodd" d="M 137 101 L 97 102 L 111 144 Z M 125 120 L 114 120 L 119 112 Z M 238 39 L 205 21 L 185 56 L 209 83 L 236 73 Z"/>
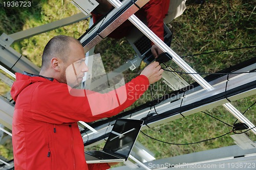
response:
<path id="1" fill-rule="evenodd" d="M 203 5 L 188 6 L 183 15 L 176 18 L 169 25 L 173 32 L 171 48 L 179 56 L 201 54 L 255 45 L 255 6 L 253 1 L 206 1 Z M 54 20 L 62 19 L 78 13 L 79 11 L 70 4 L 70 1 L 41 1 L 32 9 L 20 11 L 20 13 L 7 13 L 0 9 L 0 34 L 12 34 L 18 31 L 37 27 Z M 59 28 L 44 34 L 40 34 L 20 42 L 12 44 L 12 47 L 30 59 L 37 66 L 41 64 L 41 54 L 45 44 L 55 35 L 65 34 L 75 38 L 81 36 L 88 29 L 88 20 L 80 21 L 71 26 Z M 114 70 L 127 60 L 134 58 L 135 52 L 125 38 L 115 40 L 105 38 L 95 47 L 95 53 L 100 53 L 106 71 Z M 230 65 L 238 64 L 247 59 L 253 58 L 254 48 L 241 50 L 218 52 L 209 55 L 199 55 L 183 58 L 191 67 L 198 72 L 216 72 L 227 68 Z M 143 64 L 143 63 L 142 63 Z M 181 70 L 173 61 L 167 63 Z M 126 81 L 136 76 L 136 71 L 127 70 L 124 72 Z M 194 80 L 187 75 L 182 75 L 189 83 Z M 157 86 L 162 86 L 159 82 Z M 9 89 L 4 89 L 4 92 Z M 154 96 L 162 95 L 165 91 L 172 91 L 164 88 L 154 91 Z M 147 91 L 142 99 L 150 95 Z M 147 100 L 138 100 L 131 108 L 145 103 Z M 241 112 L 244 112 L 255 102 L 255 95 L 248 98 L 232 102 Z M 245 115 L 255 125 L 255 106 L 248 110 Z M 127 109 L 126 109 L 127 110 Z M 233 124 L 236 120 L 222 106 L 206 110 L 205 112 L 216 116 L 228 124 Z M 231 131 L 231 128 L 220 123 L 218 120 L 200 112 L 182 119 L 159 125 L 157 127 L 144 130 L 143 132 L 159 140 L 171 143 L 190 143 L 204 139 L 214 138 Z M 255 135 L 247 133 L 255 140 Z M 143 134 L 139 139 L 146 148 L 154 152 L 157 159 L 182 155 L 192 152 L 204 151 L 214 148 L 232 145 L 233 140 L 229 135 L 219 139 L 205 141 L 197 144 L 174 145 L 165 144 L 150 139 Z M 7 147 L 6 147 L 7 148 Z M 2 149 L 0 147 L 0 152 Z"/>

